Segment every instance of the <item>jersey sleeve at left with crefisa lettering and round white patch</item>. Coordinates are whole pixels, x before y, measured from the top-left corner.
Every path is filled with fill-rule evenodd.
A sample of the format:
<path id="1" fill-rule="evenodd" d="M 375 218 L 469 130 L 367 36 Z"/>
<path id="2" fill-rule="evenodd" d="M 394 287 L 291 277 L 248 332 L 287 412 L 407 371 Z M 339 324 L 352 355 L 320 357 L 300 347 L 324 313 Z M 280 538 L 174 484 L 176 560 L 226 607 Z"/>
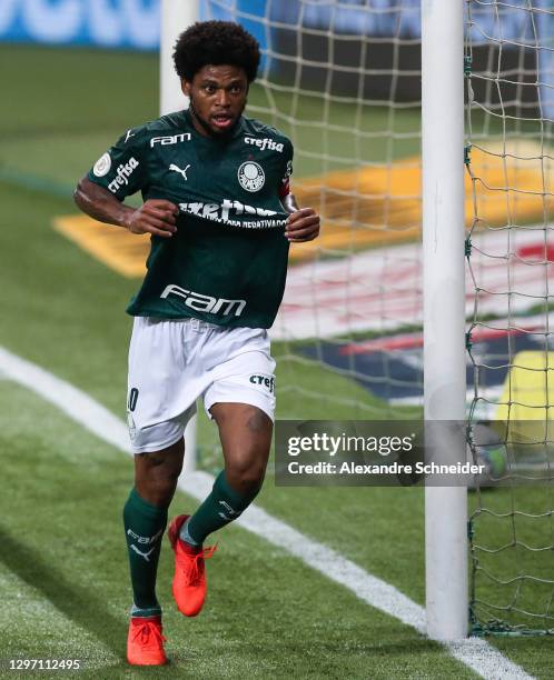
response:
<path id="1" fill-rule="evenodd" d="M 146 162 L 140 147 L 140 129 L 132 128 L 108 149 L 88 173 L 91 182 L 108 189 L 122 201 L 146 184 Z"/>

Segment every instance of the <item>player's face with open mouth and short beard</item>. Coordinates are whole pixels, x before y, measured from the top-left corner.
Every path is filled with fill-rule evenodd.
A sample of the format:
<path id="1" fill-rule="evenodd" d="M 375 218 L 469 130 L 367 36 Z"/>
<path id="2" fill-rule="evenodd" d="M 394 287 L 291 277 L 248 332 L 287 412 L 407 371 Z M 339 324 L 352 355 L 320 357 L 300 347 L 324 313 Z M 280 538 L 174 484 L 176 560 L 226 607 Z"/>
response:
<path id="1" fill-rule="evenodd" d="M 190 98 L 196 129 L 204 136 L 221 136 L 233 130 L 246 107 L 248 81 L 245 70 L 235 66 L 205 66 L 181 88 Z"/>

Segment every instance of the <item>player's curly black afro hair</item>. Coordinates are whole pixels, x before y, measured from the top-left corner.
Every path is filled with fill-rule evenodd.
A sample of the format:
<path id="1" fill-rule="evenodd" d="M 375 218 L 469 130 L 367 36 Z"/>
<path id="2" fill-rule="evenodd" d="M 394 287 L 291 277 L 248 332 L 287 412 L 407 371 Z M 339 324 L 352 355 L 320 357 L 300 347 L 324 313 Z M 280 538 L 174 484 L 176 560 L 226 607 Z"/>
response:
<path id="1" fill-rule="evenodd" d="M 202 67 L 228 63 L 240 67 L 248 82 L 256 79 L 259 43 L 233 21 L 198 21 L 182 32 L 175 43 L 174 62 L 179 78 L 189 82 Z"/>

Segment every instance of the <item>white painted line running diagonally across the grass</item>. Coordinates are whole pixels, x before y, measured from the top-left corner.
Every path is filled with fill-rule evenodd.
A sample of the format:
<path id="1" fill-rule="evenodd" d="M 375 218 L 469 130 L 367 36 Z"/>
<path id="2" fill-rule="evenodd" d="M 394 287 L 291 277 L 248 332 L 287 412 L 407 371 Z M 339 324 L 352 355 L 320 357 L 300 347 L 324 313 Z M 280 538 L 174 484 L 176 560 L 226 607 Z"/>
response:
<path id="1" fill-rule="evenodd" d="M 127 426 L 69 382 L 1 347 L 0 373 L 40 394 L 103 441 L 132 456 Z M 211 474 L 194 472 L 186 479 L 180 479 L 178 487 L 185 493 L 204 500 L 211 491 L 212 484 Z M 309 539 L 257 506 L 250 506 L 236 521 L 244 529 L 279 546 L 332 581 L 344 586 L 367 604 L 412 626 L 425 636 L 425 609 L 394 586 L 372 576 L 335 550 Z M 481 638 L 442 644 L 455 659 L 487 680 L 533 680 L 532 676 Z"/>

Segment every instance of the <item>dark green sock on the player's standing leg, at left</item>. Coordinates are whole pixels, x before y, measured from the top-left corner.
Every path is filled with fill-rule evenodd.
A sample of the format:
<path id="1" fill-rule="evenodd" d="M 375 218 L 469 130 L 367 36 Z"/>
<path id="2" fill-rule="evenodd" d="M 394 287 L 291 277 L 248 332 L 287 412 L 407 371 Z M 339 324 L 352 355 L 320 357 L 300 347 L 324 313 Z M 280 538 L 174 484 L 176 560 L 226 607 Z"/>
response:
<path id="1" fill-rule="evenodd" d="M 132 489 L 123 508 L 123 524 L 135 601 L 131 613 L 157 616 L 161 613 L 161 608 L 156 598 L 156 574 L 167 524 L 167 508 L 148 503 Z"/>

